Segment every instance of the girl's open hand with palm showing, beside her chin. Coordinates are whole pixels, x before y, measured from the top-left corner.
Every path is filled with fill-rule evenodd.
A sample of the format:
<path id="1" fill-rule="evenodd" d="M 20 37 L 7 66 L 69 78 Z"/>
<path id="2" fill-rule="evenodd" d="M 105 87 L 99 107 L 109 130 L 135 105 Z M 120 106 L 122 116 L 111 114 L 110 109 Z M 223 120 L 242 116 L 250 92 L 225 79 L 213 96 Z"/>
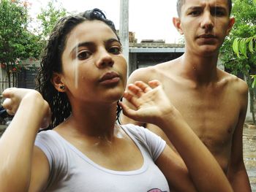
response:
<path id="1" fill-rule="evenodd" d="M 135 107 L 135 110 L 132 110 L 120 102 L 124 115 L 140 122 L 157 125 L 159 120 L 170 117 L 175 109 L 158 80 L 152 80 L 148 85 L 142 81 L 128 85 L 124 98 Z"/>

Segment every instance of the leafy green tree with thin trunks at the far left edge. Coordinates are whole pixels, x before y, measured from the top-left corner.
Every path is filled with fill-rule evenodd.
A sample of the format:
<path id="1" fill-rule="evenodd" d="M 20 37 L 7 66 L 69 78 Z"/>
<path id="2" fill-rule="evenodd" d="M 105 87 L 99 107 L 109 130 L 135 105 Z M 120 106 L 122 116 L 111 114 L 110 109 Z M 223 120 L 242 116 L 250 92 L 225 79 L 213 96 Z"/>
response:
<path id="1" fill-rule="evenodd" d="M 12 82 L 16 82 L 20 60 L 38 56 L 34 51 L 37 50 L 37 37 L 27 29 L 30 20 L 28 5 L 28 2 L 18 0 L 0 2 L 0 63 L 7 72 L 9 87 L 11 74 Z"/>

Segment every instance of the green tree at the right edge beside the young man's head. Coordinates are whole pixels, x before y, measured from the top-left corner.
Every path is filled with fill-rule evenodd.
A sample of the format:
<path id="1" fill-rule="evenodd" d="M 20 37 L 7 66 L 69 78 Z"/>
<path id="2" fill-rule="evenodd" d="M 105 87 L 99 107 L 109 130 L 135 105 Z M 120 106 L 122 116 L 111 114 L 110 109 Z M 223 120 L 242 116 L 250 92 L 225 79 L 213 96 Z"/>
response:
<path id="1" fill-rule="evenodd" d="M 253 51 L 248 51 L 255 49 L 253 47 L 255 46 L 253 37 L 256 34 L 255 0 L 234 0 L 232 16 L 236 18 L 236 23 L 229 37 L 225 40 L 220 53 L 226 69 L 229 69 L 233 74 L 244 75 L 249 86 L 250 111 L 255 123 L 256 91 L 252 86 L 250 75 L 256 73 L 256 56 Z"/>

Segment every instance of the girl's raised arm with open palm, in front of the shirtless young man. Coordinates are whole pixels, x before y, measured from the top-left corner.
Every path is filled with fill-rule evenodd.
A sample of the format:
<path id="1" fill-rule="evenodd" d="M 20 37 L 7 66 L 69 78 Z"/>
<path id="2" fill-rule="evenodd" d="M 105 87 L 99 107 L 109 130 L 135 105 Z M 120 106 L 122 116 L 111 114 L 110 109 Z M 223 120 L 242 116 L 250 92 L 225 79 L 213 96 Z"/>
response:
<path id="1" fill-rule="evenodd" d="M 129 85 L 129 92 L 124 93 L 124 97 L 135 106 L 136 110 L 122 103 L 121 107 L 124 115 L 129 118 L 153 123 L 162 128 L 173 142 L 189 174 L 186 174 L 186 167 L 181 159 L 165 147 L 157 160 L 157 165 L 167 177 L 168 182 L 177 186 L 176 179 L 173 177 L 180 177 L 185 182 L 181 187 L 187 188 L 188 191 L 232 191 L 227 177 L 214 156 L 188 126 L 180 112 L 170 104 L 159 81 L 148 82 L 148 85 L 140 81 Z M 189 177 L 192 183 L 189 183 Z M 181 188 L 176 189 L 182 191 Z"/>

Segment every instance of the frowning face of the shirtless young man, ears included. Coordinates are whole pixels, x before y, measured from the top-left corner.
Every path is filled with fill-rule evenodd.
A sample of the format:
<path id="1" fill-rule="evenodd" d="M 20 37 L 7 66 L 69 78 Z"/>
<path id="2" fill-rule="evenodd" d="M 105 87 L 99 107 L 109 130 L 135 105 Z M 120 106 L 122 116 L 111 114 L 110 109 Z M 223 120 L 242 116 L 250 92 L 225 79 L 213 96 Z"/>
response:
<path id="1" fill-rule="evenodd" d="M 187 0 L 173 21 L 187 49 L 203 55 L 217 53 L 234 23 L 227 0 Z"/>

